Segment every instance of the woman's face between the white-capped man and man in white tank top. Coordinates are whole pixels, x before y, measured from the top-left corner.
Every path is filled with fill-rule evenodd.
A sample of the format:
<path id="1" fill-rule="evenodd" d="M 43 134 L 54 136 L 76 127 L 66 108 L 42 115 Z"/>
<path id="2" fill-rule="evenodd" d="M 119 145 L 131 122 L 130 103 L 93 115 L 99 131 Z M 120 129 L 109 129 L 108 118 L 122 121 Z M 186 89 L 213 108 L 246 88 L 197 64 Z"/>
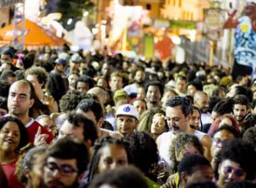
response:
<path id="1" fill-rule="evenodd" d="M 166 131 L 166 122 L 164 121 L 164 115 L 162 113 L 156 113 L 153 116 L 151 124 L 151 133 L 152 134 L 162 134 Z"/>

